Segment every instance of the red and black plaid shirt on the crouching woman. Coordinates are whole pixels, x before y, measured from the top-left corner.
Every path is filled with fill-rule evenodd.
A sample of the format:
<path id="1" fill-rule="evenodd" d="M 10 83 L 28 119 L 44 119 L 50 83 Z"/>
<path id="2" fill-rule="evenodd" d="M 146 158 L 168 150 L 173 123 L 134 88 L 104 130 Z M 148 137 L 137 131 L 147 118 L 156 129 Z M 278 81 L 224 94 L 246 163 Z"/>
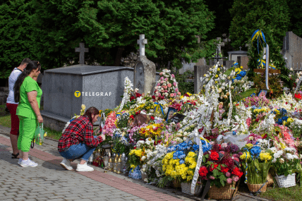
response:
<path id="1" fill-rule="evenodd" d="M 93 126 L 87 116 L 80 116 L 69 123 L 59 140 L 58 150 L 64 152 L 71 145 L 78 145 L 80 142 L 89 147 L 97 147 L 102 142 L 102 137 L 93 137 Z"/>

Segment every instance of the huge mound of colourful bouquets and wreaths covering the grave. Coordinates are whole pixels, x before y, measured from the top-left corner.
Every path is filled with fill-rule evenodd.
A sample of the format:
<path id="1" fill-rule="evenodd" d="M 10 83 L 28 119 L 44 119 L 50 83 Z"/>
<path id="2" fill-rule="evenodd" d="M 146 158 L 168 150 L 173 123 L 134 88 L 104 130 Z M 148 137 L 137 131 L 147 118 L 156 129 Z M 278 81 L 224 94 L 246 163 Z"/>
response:
<path id="1" fill-rule="evenodd" d="M 126 78 L 124 104 L 100 111 L 100 148 L 111 147 L 105 169 L 118 169 L 123 156 L 121 169 L 131 178 L 191 195 L 205 188 L 213 199 L 231 199 L 239 183 L 251 192 L 264 192 L 272 177 L 279 187 L 301 183 L 300 74 L 292 75 L 296 87 L 274 99 L 238 63 L 212 66 L 194 95 L 181 95 L 169 70 L 160 75 L 147 94 Z M 288 177 L 291 184 L 282 185 Z"/>

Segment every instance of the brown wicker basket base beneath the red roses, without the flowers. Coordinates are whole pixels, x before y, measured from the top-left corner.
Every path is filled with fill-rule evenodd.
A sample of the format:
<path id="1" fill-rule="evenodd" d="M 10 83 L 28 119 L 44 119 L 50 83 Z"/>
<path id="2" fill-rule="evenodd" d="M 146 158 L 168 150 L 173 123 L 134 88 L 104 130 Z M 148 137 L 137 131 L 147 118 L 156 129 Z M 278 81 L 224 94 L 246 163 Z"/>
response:
<path id="1" fill-rule="evenodd" d="M 211 186 L 207 195 L 211 200 L 231 200 L 238 191 L 236 183 L 227 183 L 224 187 L 217 188 L 215 185 Z"/>

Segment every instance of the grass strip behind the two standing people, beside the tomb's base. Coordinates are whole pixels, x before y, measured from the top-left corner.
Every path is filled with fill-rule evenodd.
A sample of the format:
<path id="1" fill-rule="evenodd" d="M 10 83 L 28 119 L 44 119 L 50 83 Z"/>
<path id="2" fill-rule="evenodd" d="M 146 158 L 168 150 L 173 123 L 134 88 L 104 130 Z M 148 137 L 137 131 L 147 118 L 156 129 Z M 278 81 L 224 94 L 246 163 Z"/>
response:
<path id="1" fill-rule="evenodd" d="M 0 125 L 11 128 L 11 114 L 5 111 L 6 104 L 0 105 Z M 41 107 L 41 110 L 43 108 Z M 59 140 L 62 133 L 50 128 L 44 127 L 44 131 L 47 133 L 47 138 Z"/>

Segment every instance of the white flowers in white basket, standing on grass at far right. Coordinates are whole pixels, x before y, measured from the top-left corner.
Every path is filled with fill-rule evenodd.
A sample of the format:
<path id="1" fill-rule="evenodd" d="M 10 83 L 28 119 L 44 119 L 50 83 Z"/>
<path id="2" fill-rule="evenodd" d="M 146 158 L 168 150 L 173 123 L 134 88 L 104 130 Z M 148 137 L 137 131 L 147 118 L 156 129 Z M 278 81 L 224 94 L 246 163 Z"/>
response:
<path id="1" fill-rule="evenodd" d="M 272 169 L 275 173 L 275 179 L 279 188 L 288 188 L 296 185 L 296 171 L 299 168 L 300 160 L 295 154 L 294 148 L 286 147 L 284 150 L 279 150 L 275 147 L 271 148 L 274 152 L 272 160 Z"/>

